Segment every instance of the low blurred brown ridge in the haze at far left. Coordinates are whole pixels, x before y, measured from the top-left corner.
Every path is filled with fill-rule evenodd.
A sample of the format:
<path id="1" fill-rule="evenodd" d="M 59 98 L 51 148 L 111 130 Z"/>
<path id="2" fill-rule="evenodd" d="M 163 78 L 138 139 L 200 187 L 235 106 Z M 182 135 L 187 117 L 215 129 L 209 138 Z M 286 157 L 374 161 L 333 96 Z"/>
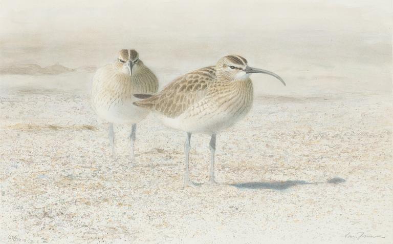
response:
<path id="1" fill-rule="evenodd" d="M 27 74 L 27 75 L 51 75 L 73 72 L 76 69 L 67 68 L 60 64 L 41 67 L 37 64 L 20 64 L 0 67 L 0 74 Z"/>

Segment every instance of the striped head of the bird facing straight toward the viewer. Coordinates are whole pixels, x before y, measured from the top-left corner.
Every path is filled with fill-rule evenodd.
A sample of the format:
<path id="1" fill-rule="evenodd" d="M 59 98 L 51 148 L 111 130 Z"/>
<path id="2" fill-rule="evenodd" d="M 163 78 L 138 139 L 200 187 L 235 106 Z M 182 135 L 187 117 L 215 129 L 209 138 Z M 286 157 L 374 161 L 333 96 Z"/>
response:
<path id="1" fill-rule="evenodd" d="M 113 66 L 118 69 L 119 72 L 132 75 L 133 70 L 142 63 L 139 60 L 139 54 L 133 49 L 122 49 L 119 51 L 119 56 L 113 63 Z"/>

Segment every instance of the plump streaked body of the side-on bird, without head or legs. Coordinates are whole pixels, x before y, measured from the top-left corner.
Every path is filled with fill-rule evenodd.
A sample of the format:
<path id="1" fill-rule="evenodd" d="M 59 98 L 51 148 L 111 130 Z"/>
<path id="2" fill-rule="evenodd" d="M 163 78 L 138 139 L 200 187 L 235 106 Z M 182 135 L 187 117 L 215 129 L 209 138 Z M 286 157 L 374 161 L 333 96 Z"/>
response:
<path id="1" fill-rule="evenodd" d="M 217 68 L 209 66 L 177 78 L 163 91 L 135 104 L 157 112 L 174 129 L 217 133 L 246 115 L 252 101 L 249 77 L 217 78 Z"/>

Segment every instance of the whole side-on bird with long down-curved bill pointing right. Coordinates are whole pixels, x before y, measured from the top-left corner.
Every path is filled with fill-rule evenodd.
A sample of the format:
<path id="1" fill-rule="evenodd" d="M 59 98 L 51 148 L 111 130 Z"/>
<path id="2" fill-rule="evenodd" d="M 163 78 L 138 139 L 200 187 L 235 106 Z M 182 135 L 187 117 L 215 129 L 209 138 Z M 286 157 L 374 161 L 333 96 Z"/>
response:
<path id="1" fill-rule="evenodd" d="M 215 66 L 185 74 L 161 92 L 135 102 L 140 107 L 156 112 L 163 123 L 187 132 L 185 144 L 185 185 L 189 179 L 188 157 L 191 134 L 211 134 L 210 182 L 214 181 L 214 152 L 216 134 L 243 118 L 253 103 L 251 73 L 265 73 L 283 80 L 276 74 L 251 68 L 247 60 L 238 55 L 221 58 Z M 136 97 L 143 97 L 136 94 Z"/>

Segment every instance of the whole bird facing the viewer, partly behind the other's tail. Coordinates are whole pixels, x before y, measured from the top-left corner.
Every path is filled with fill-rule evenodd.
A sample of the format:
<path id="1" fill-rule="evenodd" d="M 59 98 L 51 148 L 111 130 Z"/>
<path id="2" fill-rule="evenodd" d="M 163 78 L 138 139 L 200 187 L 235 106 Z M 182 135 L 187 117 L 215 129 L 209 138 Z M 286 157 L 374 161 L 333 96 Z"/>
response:
<path id="1" fill-rule="evenodd" d="M 115 156 L 113 124 L 132 125 L 131 156 L 134 157 L 136 124 L 148 110 L 133 105 L 135 93 L 153 94 L 158 90 L 156 75 L 147 68 L 135 50 L 120 50 L 112 64 L 99 68 L 92 80 L 92 104 L 95 112 L 109 123 L 109 140 Z"/>

